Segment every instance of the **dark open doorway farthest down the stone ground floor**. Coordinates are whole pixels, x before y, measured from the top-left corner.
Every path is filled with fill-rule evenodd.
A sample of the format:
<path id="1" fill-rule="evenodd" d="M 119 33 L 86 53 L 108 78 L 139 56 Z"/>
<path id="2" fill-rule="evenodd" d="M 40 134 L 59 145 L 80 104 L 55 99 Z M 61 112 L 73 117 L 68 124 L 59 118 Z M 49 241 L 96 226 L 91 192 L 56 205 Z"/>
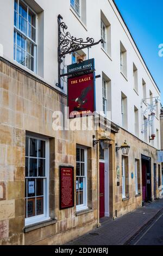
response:
<path id="1" fill-rule="evenodd" d="M 148 202 L 152 200 L 151 191 L 151 158 L 141 156 L 142 164 L 142 200 Z"/>

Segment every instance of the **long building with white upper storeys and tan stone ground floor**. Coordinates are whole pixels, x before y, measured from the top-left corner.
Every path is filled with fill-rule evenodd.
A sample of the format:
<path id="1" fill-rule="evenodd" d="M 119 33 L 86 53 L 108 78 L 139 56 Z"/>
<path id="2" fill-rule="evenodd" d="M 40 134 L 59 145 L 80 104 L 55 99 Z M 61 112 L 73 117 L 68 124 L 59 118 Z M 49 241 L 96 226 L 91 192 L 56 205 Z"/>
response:
<path id="1" fill-rule="evenodd" d="M 78 56 L 95 58 L 98 131 L 53 129 L 67 106 L 66 79 L 56 86 L 59 14 L 71 35 L 103 39 L 61 64 L 63 73 Z M 114 1 L 2 0 L 0 23 L 0 244 L 62 244 L 154 200 L 160 91 Z M 92 136 L 105 134 L 106 120 L 103 150 Z M 60 166 L 74 167 L 74 206 L 64 210 Z"/>

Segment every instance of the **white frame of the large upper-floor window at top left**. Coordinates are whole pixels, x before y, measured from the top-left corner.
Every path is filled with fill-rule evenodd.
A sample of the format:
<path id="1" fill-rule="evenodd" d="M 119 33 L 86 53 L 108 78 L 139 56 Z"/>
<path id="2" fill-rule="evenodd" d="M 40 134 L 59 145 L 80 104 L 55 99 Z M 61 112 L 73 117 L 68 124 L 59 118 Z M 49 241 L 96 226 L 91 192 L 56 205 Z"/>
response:
<path id="1" fill-rule="evenodd" d="M 22 2 L 24 5 L 26 5 L 26 7 L 27 7 L 27 20 L 26 20 L 26 21 L 27 21 L 27 34 L 25 34 L 23 31 L 21 31 L 20 28 L 18 28 L 19 16 L 21 16 L 21 14 L 19 13 L 19 10 L 16 11 L 16 15 L 17 15 L 17 27 L 15 26 L 15 7 L 14 7 L 14 33 L 16 33 L 16 38 L 15 38 L 15 42 L 14 42 L 14 47 L 15 47 L 14 61 L 15 61 L 16 63 L 18 63 L 18 64 L 24 66 L 24 68 L 26 68 L 26 69 L 28 69 L 28 70 L 30 70 L 31 72 L 34 72 L 34 73 L 36 74 L 36 72 L 37 72 L 37 59 L 38 59 L 38 56 L 37 56 L 37 52 L 38 52 L 38 51 L 37 51 L 37 45 L 38 45 L 38 37 L 37 37 L 38 19 L 37 19 L 37 14 L 35 13 L 35 11 L 34 11 L 32 8 L 29 7 L 29 5 L 28 5 L 26 2 L 24 2 L 23 0 L 21 0 L 21 2 Z M 15 4 L 15 0 L 14 0 L 14 4 Z M 18 9 L 19 9 L 19 6 L 20 6 L 20 0 L 17 0 L 17 8 L 18 8 Z M 30 26 L 32 26 L 33 28 L 35 28 L 35 41 L 34 41 L 32 38 L 30 38 L 30 37 L 28 36 L 28 28 L 29 28 L 28 14 L 29 14 L 29 10 L 31 10 L 31 11 L 35 14 L 35 27 L 34 27 L 32 24 L 30 24 Z M 21 17 L 22 17 L 22 16 L 21 16 Z M 24 19 L 24 17 L 23 17 L 23 19 Z M 26 41 L 26 50 L 24 50 L 23 48 L 21 48 L 20 46 L 17 45 L 17 33 L 19 33 L 19 34 L 20 34 L 21 36 L 23 36 L 23 38 L 25 39 L 25 41 Z M 29 54 L 29 53 L 27 52 L 27 40 L 28 40 L 29 42 L 31 42 L 31 43 L 34 45 L 34 56 L 32 56 L 31 54 Z M 23 64 L 21 64 L 21 63 L 19 63 L 19 62 L 17 62 L 17 60 L 16 60 L 16 50 L 17 50 L 17 46 L 18 46 L 21 50 L 23 50 L 23 51 L 25 52 L 25 65 L 23 65 Z M 29 68 L 27 67 L 27 65 L 26 65 L 26 64 L 27 64 L 27 54 L 34 58 L 34 70 L 29 69 Z"/>

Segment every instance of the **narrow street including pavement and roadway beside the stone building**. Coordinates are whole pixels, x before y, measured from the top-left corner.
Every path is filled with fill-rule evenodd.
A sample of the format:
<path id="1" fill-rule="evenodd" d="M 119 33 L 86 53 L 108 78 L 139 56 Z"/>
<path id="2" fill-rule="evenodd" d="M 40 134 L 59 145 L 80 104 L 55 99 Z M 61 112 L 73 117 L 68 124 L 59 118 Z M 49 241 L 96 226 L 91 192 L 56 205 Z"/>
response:
<path id="1" fill-rule="evenodd" d="M 113 221 L 102 218 L 101 227 L 67 245 L 163 245 L 163 199 Z"/>

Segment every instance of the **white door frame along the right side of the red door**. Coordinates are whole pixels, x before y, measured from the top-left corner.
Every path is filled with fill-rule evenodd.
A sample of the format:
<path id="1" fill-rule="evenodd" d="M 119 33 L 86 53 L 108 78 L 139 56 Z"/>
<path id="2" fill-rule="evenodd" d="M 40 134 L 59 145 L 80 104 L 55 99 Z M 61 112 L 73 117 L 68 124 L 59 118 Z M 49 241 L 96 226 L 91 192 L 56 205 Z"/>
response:
<path id="1" fill-rule="evenodd" d="M 104 163 L 104 184 L 105 184 L 105 217 L 109 217 L 109 149 L 104 150 L 104 160 L 99 159 L 99 163 Z"/>

